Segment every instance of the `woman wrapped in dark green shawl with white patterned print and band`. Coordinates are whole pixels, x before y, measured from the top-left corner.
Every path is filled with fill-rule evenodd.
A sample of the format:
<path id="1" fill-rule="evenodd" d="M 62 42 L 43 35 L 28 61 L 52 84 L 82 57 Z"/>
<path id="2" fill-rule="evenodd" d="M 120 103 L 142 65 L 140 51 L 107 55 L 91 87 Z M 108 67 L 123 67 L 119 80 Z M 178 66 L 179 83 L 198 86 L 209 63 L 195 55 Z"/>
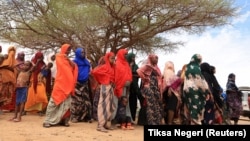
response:
<path id="1" fill-rule="evenodd" d="M 194 54 L 185 71 L 184 103 L 190 114 L 189 121 L 191 125 L 201 125 L 206 98 L 211 96 L 208 84 L 200 70 L 201 62 L 201 55 Z"/>

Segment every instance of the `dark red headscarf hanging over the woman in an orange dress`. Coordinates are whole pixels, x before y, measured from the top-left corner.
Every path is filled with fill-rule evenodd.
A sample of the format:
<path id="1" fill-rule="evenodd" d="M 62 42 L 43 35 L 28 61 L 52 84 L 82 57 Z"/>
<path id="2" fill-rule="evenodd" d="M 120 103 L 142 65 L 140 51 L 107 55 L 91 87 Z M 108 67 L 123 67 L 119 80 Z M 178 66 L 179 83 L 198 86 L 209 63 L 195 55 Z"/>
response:
<path id="1" fill-rule="evenodd" d="M 35 57 L 31 60 L 33 64 L 37 64 L 37 61 L 38 59 L 42 58 L 43 57 L 43 53 L 42 52 L 37 52 L 35 54 Z M 41 72 L 42 68 L 45 66 L 45 63 L 44 61 L 40 61 L 38 62 L 38 64 L 36 65 L 34 71 L 33 71 L 33 88 L 34 88 L 34 91 L 36 93 L 36 87 L 37 87 L 37 83 L 38 83 L 38 74 Z"/>

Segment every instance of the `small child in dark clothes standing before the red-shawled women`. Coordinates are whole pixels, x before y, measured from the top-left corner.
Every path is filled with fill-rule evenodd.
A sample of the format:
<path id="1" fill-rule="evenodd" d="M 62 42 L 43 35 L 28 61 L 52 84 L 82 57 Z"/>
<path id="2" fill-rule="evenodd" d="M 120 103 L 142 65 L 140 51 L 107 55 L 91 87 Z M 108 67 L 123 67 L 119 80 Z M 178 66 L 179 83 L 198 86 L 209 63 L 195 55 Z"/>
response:
<path id="1" fill-rule="evenodd" d="M 121 129 L 133 130 L 131 124 L 131 118 L 126 115 L 126 106 L 128 104 L 128 98 L 126 96 L 122 96 L 118 102 L 118 109 L 115 116 L 115 119 L 121 125 Z"/>

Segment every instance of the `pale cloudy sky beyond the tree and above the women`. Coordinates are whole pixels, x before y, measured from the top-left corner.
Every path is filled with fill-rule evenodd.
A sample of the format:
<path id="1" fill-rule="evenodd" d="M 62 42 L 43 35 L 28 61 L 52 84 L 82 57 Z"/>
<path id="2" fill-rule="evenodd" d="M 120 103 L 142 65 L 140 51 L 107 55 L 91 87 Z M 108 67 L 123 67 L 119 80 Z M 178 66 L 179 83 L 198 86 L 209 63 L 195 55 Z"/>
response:
<path id="1" fill-rule="evenodd" d="M 236 85 L 250 86 L 250 3 L 237 0 L 241 5 L 241 15 L 233 19 L 231 26 L 210 29 L 201 35 L 181 35 L 185 45 L 172 54 L 158 54 L 159 67 L 164 68 L 166 61 L 173 61 L 176 71 L 188 63 L 191 57 L 199 53 L 203 62 L 216 67 L 216 77 L 225 88 L 230 73 L 236 75 Z M 9 45 L 1 44 L 3 53 Z M 139 58 L 138 58 L 139 59 Z"/>

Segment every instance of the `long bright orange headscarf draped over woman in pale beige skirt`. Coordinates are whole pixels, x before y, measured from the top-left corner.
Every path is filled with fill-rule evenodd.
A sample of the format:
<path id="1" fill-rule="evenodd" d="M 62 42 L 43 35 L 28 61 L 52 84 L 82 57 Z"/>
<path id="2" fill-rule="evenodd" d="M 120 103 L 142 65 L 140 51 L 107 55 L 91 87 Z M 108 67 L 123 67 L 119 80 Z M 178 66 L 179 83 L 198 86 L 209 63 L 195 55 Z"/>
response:
<path id="1" fill-rule="evenodd" d="M 66 55 L 69 47 L 69 44 L 62 45 L 61 52 L 56 55 L 57 73 L 51 94 L 56 105 L 59 105 L 67 99 L 70 94 L 74 94 L 75 84 L 77 81 L 77 65 L 69 60 Z M 74 65 L 72 66 L 72 64 Z"/>

